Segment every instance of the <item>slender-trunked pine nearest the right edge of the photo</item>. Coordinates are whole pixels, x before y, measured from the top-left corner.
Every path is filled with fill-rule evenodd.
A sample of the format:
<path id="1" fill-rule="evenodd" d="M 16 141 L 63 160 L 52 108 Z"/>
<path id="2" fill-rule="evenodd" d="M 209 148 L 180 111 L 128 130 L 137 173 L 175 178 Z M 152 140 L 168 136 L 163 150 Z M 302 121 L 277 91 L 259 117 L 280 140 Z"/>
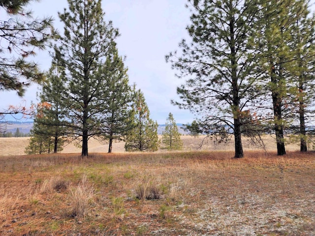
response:
<path id="1" fill-rule="evenodd" d="M 307 151 L 307 119 L 314 114 L 312 102 L 315 97 L 315 16 L 310 14 L 309 1 L 296 1 L 291 49 L 295 55 L 290 73 L 293 76 L 293 99 L 296 103 L 299 127 L 300 150 Z M 314 104 L 313 104 L 314 105 Z"/>

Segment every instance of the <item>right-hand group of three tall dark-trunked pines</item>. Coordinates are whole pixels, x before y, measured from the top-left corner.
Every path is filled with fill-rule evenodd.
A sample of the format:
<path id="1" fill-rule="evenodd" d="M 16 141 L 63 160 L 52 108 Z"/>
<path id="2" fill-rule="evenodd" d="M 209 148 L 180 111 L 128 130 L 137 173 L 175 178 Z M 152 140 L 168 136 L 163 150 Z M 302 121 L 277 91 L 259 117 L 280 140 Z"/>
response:
<path id="1" fill-rule="evenodd" d="M 242 135 L 285 135 L 300 150 L 314 134 L 315 17 L 307 0 L 188 0 L 190 41 L 166 61 L 185 84 L 174 105 L 198 117 L 204 133 L 234 136 L 235 157 L 244 156 Z M 258 138 L 257 138 L 258 137 Z"/>

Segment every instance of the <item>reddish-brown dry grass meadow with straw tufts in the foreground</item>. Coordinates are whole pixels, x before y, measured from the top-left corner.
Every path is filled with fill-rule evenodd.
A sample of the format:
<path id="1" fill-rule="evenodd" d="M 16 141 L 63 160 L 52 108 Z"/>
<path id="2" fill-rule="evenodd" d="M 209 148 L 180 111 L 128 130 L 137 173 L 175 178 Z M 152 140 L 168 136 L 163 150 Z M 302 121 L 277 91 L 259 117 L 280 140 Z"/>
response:
<path id="1" fill-rule="evenodd" d="M 185 147 L 107 154 L 91 145 L 83 159 L 1 153 L 0 235 L 315 235 L 314 152 L 248 148 L 234 159 L 227 145 Z"/>

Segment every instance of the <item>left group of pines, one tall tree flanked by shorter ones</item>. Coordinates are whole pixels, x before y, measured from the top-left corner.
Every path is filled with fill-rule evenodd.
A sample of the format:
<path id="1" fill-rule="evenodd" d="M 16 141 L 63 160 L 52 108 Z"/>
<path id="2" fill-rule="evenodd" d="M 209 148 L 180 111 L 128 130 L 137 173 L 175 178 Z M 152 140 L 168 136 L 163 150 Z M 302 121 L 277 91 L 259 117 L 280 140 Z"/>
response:
<path id="1" fill-rule="evenodd" d="M 104 21 L 101 1 L 68 0 L 59 17 L 64 32 L 54 35 L 26 153 L 58 152 L 77 142 L 88 156 L 91 138 L 109 141 L 108 152 L 115 140 L 125 140 L 127 151 L 158 150 L 158 123 L 142 91 L 129 85 L 115 42 L 119 32 Z"/>

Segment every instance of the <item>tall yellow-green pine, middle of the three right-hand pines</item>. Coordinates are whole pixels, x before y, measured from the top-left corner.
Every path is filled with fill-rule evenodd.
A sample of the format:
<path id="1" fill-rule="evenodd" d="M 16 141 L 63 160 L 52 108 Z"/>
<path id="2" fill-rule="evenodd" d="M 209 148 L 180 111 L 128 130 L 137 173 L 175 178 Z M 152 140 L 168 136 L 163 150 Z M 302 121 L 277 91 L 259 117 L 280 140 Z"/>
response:
<path id="1" fill-rule="evenodd" d="M 259 81 L 261 88 L 261 98 L 257 102 L 260 106 L 257 111 L 260 114 L 263 112 L 267 114 L 265 119 L 268 119 L 271 113 L 264 110 L 263 107 L 272 111 L 270 124 L 273 125 L 276 135 L 278 155 L 286 153 L 285 129 L 288 130 L 290 124 L 296 122 L 295 114 L 292 111 L 299 110 L 298 113 L 302 111 L 296 109 L 293 101 L 296 97 L 302 98 L 303 92 L 301 90 L 299 94 L 299 92 L 294 92 L 296 89 L 292 89 L 294 80 L 297 81 L 294 77 L 301 78 L 302 74 L 299 75 L 299 72 L 303 71 L 304 67 L 301 60 L 298 62 L 298 58 L 305 57 L 306 59 L 308 57 L 300 50 L 301 47 L 309 44 L 308 39 L 305 41 L 302 38 L 297 39 L 301 36 L 301 31 L 299 32 L 301 29 L 298 29 L 296 25 L 301 21 L 301 11 L 306 11 L 306 6 L 303 6 L 302 2 L 305 3 L 300 0 L 260 1 L 255 33 L 252 34 L 257 61 L 255 69 L 257 76 L 254 80 Z M 306 28 L 305 30 L 308 32 L 314 30 L 311 25 Z M 303 43 L 304 46 L 301 46 Z M 302 100 L 300 101 L 303 103 Z"/>

